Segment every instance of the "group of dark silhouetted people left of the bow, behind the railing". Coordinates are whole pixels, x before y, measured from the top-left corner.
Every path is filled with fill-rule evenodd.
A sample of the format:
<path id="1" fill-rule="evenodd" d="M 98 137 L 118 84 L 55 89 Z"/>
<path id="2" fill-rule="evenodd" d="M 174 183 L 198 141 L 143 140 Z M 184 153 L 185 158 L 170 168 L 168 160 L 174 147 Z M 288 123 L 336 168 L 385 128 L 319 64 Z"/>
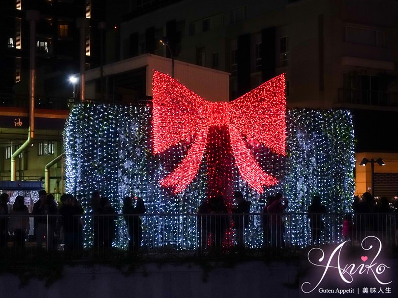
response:
<path id="1" fill-rule="evenodd" d="M 122 213 L 127 224 L 129 234 L 128 249 L 138 250 L 142 241 L 142 223 L 140 215 L 145 212 L 145 205 L 141 198 L 123 199 Z M 81 203 L 71 194 L 63 194 L 60 202 L 54 200 L 52 194 L 45 190 L 39 191 L 39 199 L 33 204 L 29 213 L 23 196 L 16 196 L 11 211 L 8 208 L 9 196 L 0 196 L 0 249 L 7 247 L 9 234 L 13 234 L 13 246 L 23 249 L 30 229 L 30 218 L 33 217 L 34 237 L 36 246 L 47 250 L 57 249 L 61 245 L 65 251 L 80 251 L 83 249 L 82 215 L 85 213 Z M 93 248 L 98 250 L 110 249 L 116 236 L 115 209 L 108 197 L 101 197 L 95 191 L 91 197 L 93 217 Z M 9 216 L 8 216 L 9 215 Z"/>

